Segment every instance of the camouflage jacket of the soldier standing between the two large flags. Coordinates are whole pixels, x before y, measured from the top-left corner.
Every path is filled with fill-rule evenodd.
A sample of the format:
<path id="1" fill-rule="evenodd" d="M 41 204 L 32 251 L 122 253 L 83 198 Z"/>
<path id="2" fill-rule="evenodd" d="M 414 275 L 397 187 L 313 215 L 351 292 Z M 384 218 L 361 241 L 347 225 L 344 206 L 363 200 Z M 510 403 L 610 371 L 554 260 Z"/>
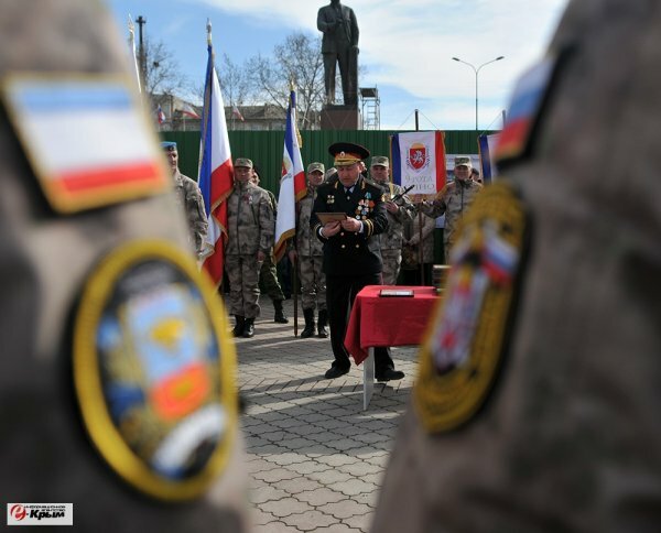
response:
<path id="1" fill-rule="evenodd" d="M 271 252 L 275 224 L 269 194 L 248 183 L 235 183 L 227 198 L 228 241 L 225 253 L 253 254 Z"/>

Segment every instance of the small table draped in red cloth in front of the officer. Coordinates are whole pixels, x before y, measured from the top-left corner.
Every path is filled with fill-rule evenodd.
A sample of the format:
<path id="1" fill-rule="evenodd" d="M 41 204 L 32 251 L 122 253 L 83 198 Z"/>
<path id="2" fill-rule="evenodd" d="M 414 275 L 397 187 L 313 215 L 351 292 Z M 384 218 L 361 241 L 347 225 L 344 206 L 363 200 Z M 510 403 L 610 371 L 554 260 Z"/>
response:
<path id="1" fill-rule="evenodd" d="M 413 296 L 380 296 L 381 290 L 413 291 Z M 373 347 L 412 346 L 422 341 L 438 302 L 431 286 L 368 285 L 357 295 L 345 336 L 345 347 L 362 370 L 364 409 L 373 391 Z"/>

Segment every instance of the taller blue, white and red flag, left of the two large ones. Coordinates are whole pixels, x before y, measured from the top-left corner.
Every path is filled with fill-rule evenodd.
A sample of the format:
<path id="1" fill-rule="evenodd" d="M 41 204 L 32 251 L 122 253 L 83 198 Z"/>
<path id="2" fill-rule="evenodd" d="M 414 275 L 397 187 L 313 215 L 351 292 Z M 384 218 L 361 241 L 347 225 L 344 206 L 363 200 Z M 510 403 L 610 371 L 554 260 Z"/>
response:
<path id="1" fill-rule="evenodd" d="M 204 88 L 204 108 L 202 116 L 199 189 L 204 197 L 204 207 L 209 224 L 207 232 L 208 254 L 203 269 L 219 286 L 225 266 L 225 243 L 227 241 L 227 197 L 234 186 L 234 165 L 227 137 L 225 107 L 220 84 L 214 66 L 212 45 L 212 25 L 207 23 L 208 62 Z"/>

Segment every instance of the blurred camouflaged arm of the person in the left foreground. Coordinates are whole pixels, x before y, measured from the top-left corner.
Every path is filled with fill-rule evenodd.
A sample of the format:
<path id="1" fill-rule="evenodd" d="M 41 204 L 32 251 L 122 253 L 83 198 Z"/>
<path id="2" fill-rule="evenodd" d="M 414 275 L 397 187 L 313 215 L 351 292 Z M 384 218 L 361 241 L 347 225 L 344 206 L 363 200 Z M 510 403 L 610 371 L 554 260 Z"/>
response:
<path id="1" fill-rule="evenodd" d="M 158 339 L 148 339 L 147 336 L 138 339 L 120 333 L 140 327 L 137 317 L 147 318 L 145 322 L 149 323 L 145 308 L 153 311 L 153 315 L 160 315 L 165 324 L 182 324 L 181 313 L 173 309 L 175 313 L 172 316 L 176 320 L 170 320 L 162 309 L 154 308 L 153 302 L 162 302 L 161 296 L 167 294 L 172 296 L 171 302 L 182 303 L 181 295 L 192 294 L 187 289 L 192 274 L 181 275 L 182 271 L 175 270 L 172 261 L 165 261 L 154 253 L 154 248 L 158 247 L 161 252 L 167 250 L 169 257 L 175 257 L 180 264 L 188 265 L 187 272 L 203 278 L 196 270 L 195 261 L 183 251 L 188 239 L 186 219 L 183 210 L 177 208 L 159 140 L 143 120 L 140 95 L 131 84 L 128 66 L 126 41 L 120 39 L 117 24 L 104 2 L 0 2 L 0 78 L 3 89 L 9 90 L 4 83 L 10 78 L 31 87 L 40 87 L 43 107 L 37 115 L 43 118 L 47 115 L 44 112 L 46 108 L 48 113 L 59 113 L 59 133 L 46 139 L 44 150 L 43 143 L 37 143 L 35 139 L 41 135 L 43 140 L 44 131 L 52 129 L 46 130 L 43 128 L 44 122 L 40 124 L 36 120 L 33 122 L 37 126 L 32 135 L 19 135 L 18 128 L 25 124 L 28 116 L 35 117 L 34 108 L 30 112 L 25 109 L 19 113 L 12 112 L 19 119 L 12 122 L 10 109 L 17 111 L 18 108 L 11 107 L 9 91 L 2 94 L 0 500 L 73 503 L 74 524 L 80 531 L 248 531 L 245 496 L 248 480 L 245 467 L 241 467 L 245 452 L 240 431 L 230 431 L 232 424 L 225 426 L 220 423 L 220 428 L 226 429 L 224 434 L 235 442 L 229 455 L 225 459 L 219 457 L 220 463 L 227 463 L 226 475 L 220 477 L 213 475 L 208 478 L 209 472 L 205 471 L 208 465 L 205 458 L 208 457 L 209 445 L 213 446 L 210 439 L 204 439 L 205 434 L 214 433 L 208 432 L 209 418 L 206 418 L 207 425 L 203 431 L 196 431 L 187 424 L 195 422 L 197 411 L 188 417 L 184 410 L 167 421 L 173 431 L 176 427 L 186 428 L 185 435 L 170 434 L 178 438 L 169 442 L 169 457 L 189 460 L 174 475 L 163 469 L 154 471 L 149 461 L 143 459 L 144 456 L 139 457 L 129 447 L 131 435 L 145 437 L 144 442 L 151 445 L 155 443 L 154 433 L 162 429 L 155 423 L 159 416 L 152 407 L 155 404 L 154 398 L 148 393 L 147 388 L 140 387 L 141 380 L 155 381 L 153 376 L 145 376 L 145 368 L 150 365 L 147 359 L 169 355 L 176 358 L 181 353 L 176 349 L 177 344 L 181 342 L 184 347 L 195 346 L 195 335 L 209 334 L 204 325 L 208 320 L 204 318 L 205 313 L 201 313 L 198 300 L 203 294 L 213 300 L 216 296 L 209 283 L 207 291 L 195 294 L 196 301 L 189 303 L 188 311 L 193 309 L 196 318 L 203 318 L 192 323 L 184 320 L 196 327 L 175 327 L 175 334 L 170 337 L 173 340 L 170 346 L 172 349 L 163 349 L 161 356 L 154 353 L 159 351 Z M 104 90 L 95 93 L 95 87 Z M 63 93 L 71 95 L 72 89 L 77 91 L 79 98 L 58 100 L 57 96 L 53 96 Z M 20 96 L 24 96 L 24 93 Z M 118 96 L 123 98 L 113 98 Z M 57 106 L 57 101 L 65 106 Z M 63 113 L 63 110 L 66 111 Z M 123 115 L 122 120 L 115 124 L 97 120 L 96 123 L 100 122 L 100 126 L 94 127 L 90 121 L 82 123 L 82 110 L 96 113 L 97 117 L 99 111 L 112 116 L 119 110 Z M 53 117 L 52 113 L 50 116 Z M 90 129 L 95 130 L 91 134 Z M 75 139 L 75 134 L 80 132 L 94 144 L 95 152 L 109 155 L 111 161 L 115 157 L 116 162 L 119 160 L 131 163 L 127 157 L 122 159 L 123 152 L 118 150 L 118 138 L 122 137 L 121 140 L 126 142 L 138 140 L 143 145 L 140 149 L 143 152 L 141 157 L 148 155 L 149 159 L 137 162 L 143 161 L 150 165 L 124 164 L 116 166 L 109 173 L 107 159 L 102 160 L 97 155 L 95 160 L 94 154 L 82 153 L 79 140 Z M 96 150 L 97 148 L 102 150 Z M 50 154 L 46 153 L 48 150 Z M 34 157 L 29 156 L 30 153 Z M 52 163 L 46 160 L 53 155 L 66 156 L 77 165 L 78 176 L 86 182 L 82 183 L 83 186 L 98 186 L 100 191 L 94 193 L 94 206 L 86 205 L 71 213 L 61 211 L 51 204 L 44 192 L 59 177 L 50 174 L 51 180 L 41 181 L 39 176 L 44 168 L 50 167 Z M 134 191 L 136 182 L 145 183 L 141 182 L 145 175 L 155 178 L 149 182 L 149 187 L 132 197 L 123 196 L 127 189 Z M 116 180 L 118 186 L 115 193 L 119 192 L 119 197 L 107 194 L 105 187 L 109 181 L 104 183 L 104 177 Z M 87 202 L 89 198 L 82 199 Z M 144 253 L 144 262 L 139 264 L 143 275 L 136 268 L 127 266 L 120 279 L 111 275 L 98 278 L 99 273 L 108 273 L 107 266 L 117 260 L 118 254 L 123 254 L 126 260 L 129 253 L 136 252 Z M 118 262 L 113 264 L 117 266 Z M 173 273 L 177 273 L 177 278 L 172 276 Z M 93 280 L 100 280 L 105 289 L 89 291 L 94 285 Z M 94 287 L 99 289 L 99 285 Z M 123 289 L 121 294 L 117 287 Z M 160 289 L 153 291 L 150 287 Z M 111 292 L 107 292 L 107 289 Z M 118 298 L 111 301 L 108 294 L 117 295 Z M 136 305 L 141 298 L 144 305 Z M 98 305 L 95 309 L 98 313 L 83 314 L 82 302 L 94 302 L 95 306 L 99 302 L 106 302 L 107 305 L 104 312 Z M 219 302 L 216 305 L 218 313 L 213 318 L 219 320 L 219 330 L 224 330 L 225 313 Z M 98 345 L 102 341 L 96 340 L 102 337 L 104 324 L 109 324 L 111 317 L 115 320 L 119 316 L 121 327 L 115 330 L 113 339 L 106 338 L 106 341 L 124 340 L 126 349 L 117 349 L 112 357 L 105 360 L 98 357 L 94 365 L 79 365 L 77 356 L 82 356 L 83 351 L 86 351 L 86 356 L 98 353 Z M 91 327 L 86 327 L 90 323 Z M 172 327 L 165 329 L 173 333 Z M 193 333 L 194 329 L 197 333 Z M 84 340 L 76 342 L 74 338 Z M 205 338 L 210 340 L 213 335 Z M 187 344 L 191 340 L 193 342 Z M 231 346 L 230 339 L 224 341 Z M 227 351 L 219 347 L 205 352 L 205 358 L 214 353 L 217 357 L 218 352 L 223 353 L 223 360 L 230 359 L 226 357 Z M 199 361 L 198 355 L 188 352 L 184 359 L 191 361 L 193 357 L 195 361 Z M 110 403 L 100 398 L 101 389 L 109 392 L 109 374 L 112 372 L 101 377 L 99 369 L 110 369 L 118 359 L 126 361 L 130 357 L 136 358 L 137 365 L 132 368 L 137 379 L 131 387 L 122 389 L 130 391 L 130 394 L 122 396 L 122 406 L 112 409 Z M 138 363 L 139 357 L 144 357 L 143 365 Z M 86 360 L 91 362 L 91 359 Z M 169 365 L 170 362 L 167 361 Z M 149 368 L 153 370 L 153 366 Z M 93 385 L 87 392 L 95 394 L 98 403 L 94 405 L 101 406 L 101 416 L 90 420 L 83 415 L 83 410 L 90 407 L 91 400 L 75 387 L 75 383 L 80 384 L 82 380 L 77 379 L 79 374 L 83 380 L 87 378 L 87 382 L 98 383 L 98 387 Z M 202 376 L 205 377 L 204 373 Z M 231 381 L 232 379 L 229 380 Z M 192 382 L 195 381 L 187 381 Z M 218 384 L 218 378 L 212 374 L 206 374 L 204 384 L 209 391 L 217 387 L 225 389 L 225 384 Z M 182 390 L 180 387 L 176 393 L 167 398 L 181 406 L 178 401 L 189 399 L 193 392 L 192 388 L 186 389 Z M 136 409 L 141 401 L 149 411 L 145 413 L 144 409 L 141 410 L 142 416 L 138 415 L 139 410 Z M 121 413 L 126 416 L 121 416 Z M 236 417 L 235 407 L 231 414 L 226 411 L 224 420 L 229 423 L 231 418 L 236 421 Z M 109 421 L 120 418 L 127 424 L 118 424 L 113 426 L 113 431 L 109 431 Z M 236 422 L 234 425 L 237 425 Z M 182 436 L 186 438 L 181 438 Z M 121 447 L 118 439 L 121 439 Z M 113 446 L 111 450 L 108 449 L 110 446 Z M 101 447 L 105 449 L 101 450 Z M 131 478 L 130 481 L 128 478 Z M 197 489 L 193 483 L 204 478 L 213 480 L 213 483 L 203 493 L 195 496 Z M 143 482 L 148 479 L 151 480 L 149 494 Z M 180 486 L 185 482 L 189 485 L 182 489 Z M 166 491 L 169 497 L 156 498 L 156 489 Z M 191 489 L 195 489 L 195 492 L 192 493 Z M 182 496 L 188 501 L 182 501 Z M 40 522 L 40 525 L 44 522 L 45 520 Z M 57 526 L 54 529 L 57 530 Z"/>

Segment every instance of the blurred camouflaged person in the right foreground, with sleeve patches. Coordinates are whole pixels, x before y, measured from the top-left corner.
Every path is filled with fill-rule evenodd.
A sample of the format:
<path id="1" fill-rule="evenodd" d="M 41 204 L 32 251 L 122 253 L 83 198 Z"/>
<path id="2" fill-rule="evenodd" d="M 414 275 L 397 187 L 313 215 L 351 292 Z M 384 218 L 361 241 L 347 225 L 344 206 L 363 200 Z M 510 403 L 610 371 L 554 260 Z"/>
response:
<path id="1" fill-rule="evenodd" d="M 660 530 L 660 62 L 658 3 L 575 0 L 514 89 L 372 531 Z"/>

